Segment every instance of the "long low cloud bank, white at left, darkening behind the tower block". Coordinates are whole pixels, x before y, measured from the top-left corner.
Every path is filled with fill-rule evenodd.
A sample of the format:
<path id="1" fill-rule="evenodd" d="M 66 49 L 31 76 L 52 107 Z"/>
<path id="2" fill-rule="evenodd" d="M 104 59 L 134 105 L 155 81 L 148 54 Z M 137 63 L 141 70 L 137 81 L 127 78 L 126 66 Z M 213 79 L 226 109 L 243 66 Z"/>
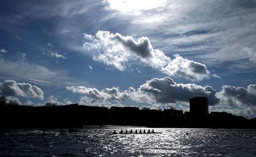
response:
<path id="1" fill-rule="evenodd" d="M 142 84 L 140 88 L 134 89 L 130 87 L 123 92 L 117 88 L 105 88 L 98 90 L 96 88 L 87 87 L 67 87 L 73 93 L 80 93 L 85 95 L 83 102 L 97 103 L 108 102 L 115 100 L 122 102 L 124 99 L 132 100 L 133 102 L 145 103 L 176 103 L 188 102 L 189 98 L 193 97 L 208 97 L 209 104 L 214 105 L 219 102 L 215 97 L 215 90 L 210 86 L 202 87 L 196 84 L 177 84 L 173 79 L 154 78 Z M 87 100 L 87 101 L 86 101 Z"/>

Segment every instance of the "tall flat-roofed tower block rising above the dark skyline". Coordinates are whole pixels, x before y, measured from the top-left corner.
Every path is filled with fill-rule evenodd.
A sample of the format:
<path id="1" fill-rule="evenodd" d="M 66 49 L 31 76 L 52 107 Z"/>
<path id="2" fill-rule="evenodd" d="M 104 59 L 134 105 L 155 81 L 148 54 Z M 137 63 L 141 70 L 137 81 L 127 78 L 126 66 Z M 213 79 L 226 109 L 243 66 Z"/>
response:
<path id="1" fill-rule="evenodd" d="M 206 97 L 194 97 L 189 99 L 190 114 L 192 115 L 207 115 L 208 98 Z"/>

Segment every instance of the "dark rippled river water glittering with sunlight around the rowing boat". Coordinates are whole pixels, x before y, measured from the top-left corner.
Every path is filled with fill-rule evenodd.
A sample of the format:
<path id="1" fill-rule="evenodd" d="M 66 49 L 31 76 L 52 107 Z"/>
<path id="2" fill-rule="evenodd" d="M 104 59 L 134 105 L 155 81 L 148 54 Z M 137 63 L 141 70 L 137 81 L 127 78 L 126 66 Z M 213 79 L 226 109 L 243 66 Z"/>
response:
<path id="1" fill-rule="evenodd" d="M 163 133 L 106 134 L 114 129 L 142 127 L 0 130 L 0 156 L 256 156 L 256 130 L 154 128 Z"/>

